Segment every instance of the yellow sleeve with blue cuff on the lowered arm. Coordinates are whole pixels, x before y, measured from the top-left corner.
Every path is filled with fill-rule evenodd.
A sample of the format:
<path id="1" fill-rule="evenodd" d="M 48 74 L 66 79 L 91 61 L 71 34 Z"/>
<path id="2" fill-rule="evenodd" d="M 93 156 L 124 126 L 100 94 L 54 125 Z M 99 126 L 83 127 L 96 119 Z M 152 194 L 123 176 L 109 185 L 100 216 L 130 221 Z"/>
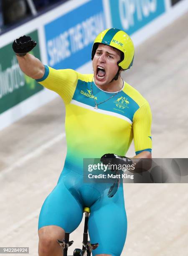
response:
<path id="1" fill-rule="evenodd" d="M 133 136 L 136 155 L 142 151 L 151 152 L 152 150 L 151 123 L 150 105 L 146 102 L 133 116 Z"/>

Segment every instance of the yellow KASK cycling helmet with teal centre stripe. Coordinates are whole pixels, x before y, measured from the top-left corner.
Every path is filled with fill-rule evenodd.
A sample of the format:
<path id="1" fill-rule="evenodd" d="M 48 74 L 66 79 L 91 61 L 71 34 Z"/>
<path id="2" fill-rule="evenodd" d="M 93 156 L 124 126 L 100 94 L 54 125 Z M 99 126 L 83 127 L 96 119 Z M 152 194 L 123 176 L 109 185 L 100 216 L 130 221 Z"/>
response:
<path id="1" fill-rule="evenodd" d="M 95 38 L 91 59 L 93 60 L 98 44 L 106 44 L 112 46 L 124 54 L 123 58 L 118 62 L 122 69 L 130 69 L 133 63 L 135 49 L 130 36 L 124 31 L 117 28 L 109 28 Z"/>

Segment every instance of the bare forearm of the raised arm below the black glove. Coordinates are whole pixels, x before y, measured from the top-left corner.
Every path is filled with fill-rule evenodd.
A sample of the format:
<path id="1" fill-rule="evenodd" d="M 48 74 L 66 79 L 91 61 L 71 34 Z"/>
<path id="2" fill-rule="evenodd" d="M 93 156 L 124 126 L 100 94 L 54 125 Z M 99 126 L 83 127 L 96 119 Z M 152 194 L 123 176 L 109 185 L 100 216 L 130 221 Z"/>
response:
<path id="1" fill-rule="evenodd" d="M 40 79 L 44 75 L 44 65 L 32 54 L 26 54 L 25 56 L 17 56 L 20 69 L 28 77 L 33 79 Z"/>

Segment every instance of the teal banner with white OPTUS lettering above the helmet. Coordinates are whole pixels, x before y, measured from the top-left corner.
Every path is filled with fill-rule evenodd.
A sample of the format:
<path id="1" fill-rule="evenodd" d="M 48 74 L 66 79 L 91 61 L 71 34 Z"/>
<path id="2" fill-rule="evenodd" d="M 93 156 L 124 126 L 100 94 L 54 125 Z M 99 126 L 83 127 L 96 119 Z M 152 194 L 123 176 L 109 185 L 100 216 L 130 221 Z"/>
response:
<path id="1" fill-rule="evenodd" d="M 109 0 L 112 26 L 132 34 L 165 12 L 164 0 Z"/>

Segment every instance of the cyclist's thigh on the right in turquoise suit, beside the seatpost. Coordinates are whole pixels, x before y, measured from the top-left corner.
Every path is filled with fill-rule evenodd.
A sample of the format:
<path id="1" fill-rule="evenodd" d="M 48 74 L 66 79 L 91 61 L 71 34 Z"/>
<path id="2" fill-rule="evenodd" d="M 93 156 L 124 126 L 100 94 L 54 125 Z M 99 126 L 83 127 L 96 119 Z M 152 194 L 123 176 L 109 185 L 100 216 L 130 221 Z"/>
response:
<path id="1" fill-rule="evenodd" d="M 112 198 L 107 197 L 105 192 L 104 196 L 90 208 L 89 237 L 91 243 L 99 243 L 98 248 L 92 251 L 92 255 L 121 255 L 127 235 L 122 186 Z"/>

